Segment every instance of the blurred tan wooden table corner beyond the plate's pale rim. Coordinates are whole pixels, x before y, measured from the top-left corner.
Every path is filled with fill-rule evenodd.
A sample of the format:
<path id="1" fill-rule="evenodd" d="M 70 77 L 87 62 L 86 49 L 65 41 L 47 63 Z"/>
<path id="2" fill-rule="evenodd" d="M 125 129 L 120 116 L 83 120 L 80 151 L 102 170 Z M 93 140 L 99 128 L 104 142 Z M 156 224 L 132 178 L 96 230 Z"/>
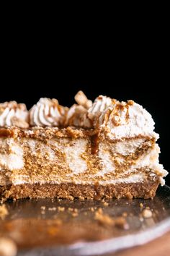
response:
<path id="1" fill-rule="evenodd" d="M 142 246 L 125 249 L 106 256 L 167 256 L 170 255 L 170 232 Z"/>

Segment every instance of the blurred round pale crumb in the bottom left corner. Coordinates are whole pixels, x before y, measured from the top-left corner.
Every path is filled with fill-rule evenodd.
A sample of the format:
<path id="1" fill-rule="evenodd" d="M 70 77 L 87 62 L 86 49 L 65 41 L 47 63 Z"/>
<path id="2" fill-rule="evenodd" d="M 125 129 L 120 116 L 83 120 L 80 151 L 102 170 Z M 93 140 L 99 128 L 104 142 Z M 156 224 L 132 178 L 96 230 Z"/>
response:
<path id="1" fill-rule="evenodd" d="M 1 256 L 16 256 L 17 255 L 17 246 L 9 238 L 0 238 L 0 255 Z"/>

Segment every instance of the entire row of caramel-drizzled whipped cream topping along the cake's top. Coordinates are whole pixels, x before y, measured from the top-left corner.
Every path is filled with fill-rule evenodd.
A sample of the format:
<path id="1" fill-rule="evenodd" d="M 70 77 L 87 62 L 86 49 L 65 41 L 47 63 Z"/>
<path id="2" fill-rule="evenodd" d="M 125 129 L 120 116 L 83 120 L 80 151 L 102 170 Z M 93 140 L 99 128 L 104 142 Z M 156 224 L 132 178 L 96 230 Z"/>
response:
<path id="1" fill-rule="evenodd" d="M 94 128 L 111 140 L 138 135 L 158 138 L 151 114 L 138 103 L 116 101 L 99 95 L 92 103 L 82 91 L 75 95 L 77 104 L 64 108 L 56 99 L 40 98 L 30 109 L 30 125 L 37 127 L 75 126 Z M 0 127 L 27 128 L 28 112 L 15 101 L 0 104 Z"/>

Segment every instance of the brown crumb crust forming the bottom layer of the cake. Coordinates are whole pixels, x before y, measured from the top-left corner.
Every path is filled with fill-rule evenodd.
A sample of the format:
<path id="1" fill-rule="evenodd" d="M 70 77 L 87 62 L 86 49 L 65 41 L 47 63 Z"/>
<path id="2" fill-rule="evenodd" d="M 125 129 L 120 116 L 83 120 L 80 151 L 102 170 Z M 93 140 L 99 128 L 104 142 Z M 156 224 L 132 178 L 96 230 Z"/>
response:
<path id="1" fill-rule="evenodd" d="M 0 187 L 1 199 L 63 198 L 73 200 L 101 200 L 102 198 L 151 198 L 156 195 L 159 180 L 143 183 L 107 184 L 19 184 Z"/>

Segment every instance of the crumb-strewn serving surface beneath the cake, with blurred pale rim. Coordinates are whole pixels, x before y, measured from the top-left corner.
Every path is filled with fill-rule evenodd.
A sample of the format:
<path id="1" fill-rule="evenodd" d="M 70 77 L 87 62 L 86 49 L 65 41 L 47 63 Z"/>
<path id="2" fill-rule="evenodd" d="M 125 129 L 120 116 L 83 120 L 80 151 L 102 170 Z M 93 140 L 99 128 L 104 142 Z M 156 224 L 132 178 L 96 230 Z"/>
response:
<path id="1" fill-rule="evenodd" d="M 169 248 L 167 186 L 159 187 L 153 200 L 17 200 L 4 205 L 8 213 L 0 218 L 0 236 L 17 244 L 19 256 L 142 255 L 143 249 L 163 255 Z M 139 244 L 144 245 L 135 247 Z"/>

